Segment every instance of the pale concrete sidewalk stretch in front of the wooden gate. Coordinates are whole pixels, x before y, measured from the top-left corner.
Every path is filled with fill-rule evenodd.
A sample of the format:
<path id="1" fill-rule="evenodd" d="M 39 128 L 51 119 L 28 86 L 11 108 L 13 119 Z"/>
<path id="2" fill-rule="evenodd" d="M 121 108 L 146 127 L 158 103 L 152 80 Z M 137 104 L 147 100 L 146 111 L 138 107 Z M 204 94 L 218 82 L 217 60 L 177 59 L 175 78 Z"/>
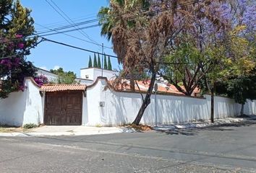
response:
<path id="1" fill-rule="evenodd" d="M 119 127 L 88 127 L 77 125 L 45 125 L 30 132 L 0 133 L 0 136 L 86 136 L 110 133 L 123 133 Z"/>

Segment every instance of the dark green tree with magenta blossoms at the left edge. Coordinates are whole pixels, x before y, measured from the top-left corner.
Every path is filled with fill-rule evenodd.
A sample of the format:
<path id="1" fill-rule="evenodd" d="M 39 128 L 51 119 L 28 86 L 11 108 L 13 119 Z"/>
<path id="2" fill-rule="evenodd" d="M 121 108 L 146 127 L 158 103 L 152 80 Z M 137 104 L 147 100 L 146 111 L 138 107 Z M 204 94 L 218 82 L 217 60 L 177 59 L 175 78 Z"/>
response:
<path id="1" fill-rule="evenodd" d="M 25 89 L 25 76 L 36 75 L 33 63 L 25 59 L 37 41 L 29 37 L 35 31 L 30 12 L 19 0 L 0 1 L 0 98 Z"/>

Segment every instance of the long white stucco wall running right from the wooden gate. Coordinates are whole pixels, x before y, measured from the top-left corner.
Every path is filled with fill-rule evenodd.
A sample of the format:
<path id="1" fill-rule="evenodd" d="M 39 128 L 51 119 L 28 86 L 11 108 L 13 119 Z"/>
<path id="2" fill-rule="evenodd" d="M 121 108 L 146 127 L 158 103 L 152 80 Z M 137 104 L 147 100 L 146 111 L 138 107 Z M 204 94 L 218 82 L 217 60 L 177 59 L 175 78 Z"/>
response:
<path id="1" fill-rule="evenodd" d="M 142 104 L 141 95 L 137 93 L 115 92 L 106 89 L 106 81 L 100 79 L 98 84 L 89 87 L 87 91 L 87 116 L 85 125 L 121 125 L 132 123 Z M 157 95 L 158 123 L 182 123 L 192 120 L 210 119 L 210 95 L 205 98 L 183 97 L 174 95 Z M 99 102 L 105 102 L 105 107 L 100 107 Z M 249 110 L 255 111 L 255 103 L 249 103 Z M 254 107 L 252 106 L 254 105 Z M 239 115 L 241 105 L 234 99 L 215 97 L 215 118 L 233 117 Z M 245 108 L 248 110 L 248 108 Z M 155 95 L 151 96 L 142 117 L 141 123 L 155 123 Z"/>

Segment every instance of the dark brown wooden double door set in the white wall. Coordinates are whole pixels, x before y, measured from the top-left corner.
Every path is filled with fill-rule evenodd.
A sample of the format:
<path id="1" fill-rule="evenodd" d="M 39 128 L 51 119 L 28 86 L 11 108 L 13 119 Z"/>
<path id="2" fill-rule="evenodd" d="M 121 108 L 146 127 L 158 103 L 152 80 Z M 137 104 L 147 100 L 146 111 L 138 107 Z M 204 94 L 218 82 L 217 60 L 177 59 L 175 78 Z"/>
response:
<path id="1" fill-rule="evenodd" d="M 46 92 L 45 125 L 82 125 L 82 91 Z"/>

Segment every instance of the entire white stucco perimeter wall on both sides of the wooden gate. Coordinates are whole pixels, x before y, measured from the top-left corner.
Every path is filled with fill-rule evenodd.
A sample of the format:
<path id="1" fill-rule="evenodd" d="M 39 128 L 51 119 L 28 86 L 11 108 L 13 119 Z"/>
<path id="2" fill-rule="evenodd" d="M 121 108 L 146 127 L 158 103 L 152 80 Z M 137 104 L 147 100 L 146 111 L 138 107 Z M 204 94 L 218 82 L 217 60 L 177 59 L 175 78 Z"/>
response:
<path id="1" fill-rule="evenodd" d="M 0 124 L 25 125 L 26 123 L 43 123 L 44 94 L 40 96 L 39 88 L 31 79 L 25 79 L 24 92 L 13 92 L 7 99 L 0 99 Z M 141 95 L 137 93 L 115 92 L 106 88 L 106 80 L 89 86 L 86 97 L 83 95 L 82 125 L 121 125 L 132 123 L 142 104 Z M 210 119 L 210 95 L 205 98 L 193 98 L 158 94 L 157 116 L 159 124 L 182 123 L 192 120 Z M 101 107 L 100 102 L 105 106 Z M 215 118 L 239 115 L 241 105 L 234 99 L 215 97 Z M 247 100 L 244 113 L 256 115 L 255 101 Z M 155 123 L 155 95 L 145 110 L 141 123 Z"/>

